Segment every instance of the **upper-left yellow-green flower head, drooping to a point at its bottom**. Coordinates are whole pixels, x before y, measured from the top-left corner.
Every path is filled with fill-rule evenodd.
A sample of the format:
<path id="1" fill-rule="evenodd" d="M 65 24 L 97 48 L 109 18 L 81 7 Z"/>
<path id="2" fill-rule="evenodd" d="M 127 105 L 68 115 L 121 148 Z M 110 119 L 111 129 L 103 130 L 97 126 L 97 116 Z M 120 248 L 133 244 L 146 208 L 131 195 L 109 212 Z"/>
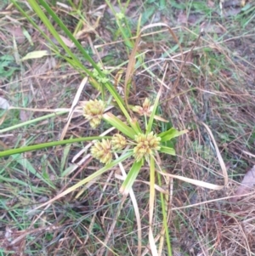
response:
<path id="1" fill-rule="evenodd" d="M 92 128 L 97 128 L 105 111 L 105 102 L 102 100 L 89 100 L 83 105 L 83 116 L 89 120 Z"/>

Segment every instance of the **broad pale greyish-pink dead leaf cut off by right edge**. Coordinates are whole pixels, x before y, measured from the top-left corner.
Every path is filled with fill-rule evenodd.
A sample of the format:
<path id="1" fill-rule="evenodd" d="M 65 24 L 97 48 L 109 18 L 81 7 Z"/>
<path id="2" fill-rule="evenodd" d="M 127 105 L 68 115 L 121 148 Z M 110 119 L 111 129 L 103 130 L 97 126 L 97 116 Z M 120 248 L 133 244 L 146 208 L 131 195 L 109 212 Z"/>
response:
<path id="1" fill-rule="evenodd" d="M 235 197 L 231 198 L 231 202 L 241 199 L 241 196 L 249 193 L 255 186 L 255 165 L 250 169 L 241 181 L 241 185 L 235 191 Z"/>

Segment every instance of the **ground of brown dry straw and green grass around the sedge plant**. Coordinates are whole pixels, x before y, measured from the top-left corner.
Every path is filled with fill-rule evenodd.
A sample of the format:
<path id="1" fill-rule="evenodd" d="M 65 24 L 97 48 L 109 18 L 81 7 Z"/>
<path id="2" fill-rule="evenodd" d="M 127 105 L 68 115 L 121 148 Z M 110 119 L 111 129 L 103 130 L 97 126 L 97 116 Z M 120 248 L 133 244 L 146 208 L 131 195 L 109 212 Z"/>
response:
<path id="1" fill-rule="evenodd" d="M 111 128 L 105 123 L 91 128 L 79 111 L 66 122 L 86 76 L 81 66 L 71 65 L 28 2 L 20 2 L 20 7 L 37 27 L 11 1 L 0 3 L 2 152 L 97 136 Z M 125 99 L 129 105 L 142 105 L 146 97 L 155 100 L 161 88 L 156 115 L 167 122 L 157 121 L 156 132 L 171 127 L 187 130 L 171 141 L 176 156 L 160 156 L 166 174 L 193 179 L 195 184 L 173 176 L 165 176 L 161 184 L 156 176 L 153 233 L 158 255 L 169 255 L 166 240 L 161 240 L 162 190 L 167 191 L 167 233 L 174 256 L 255 255 L 254 195 L 248 190 L 248 196 L 243 196 L 246 192 L 241 190 L 244 177 L 255 185 L 252 175 L 247 176 L 255 164 L 255 3 L 110 2 L 48 4 L 93 60 L 110 71 L 110 80 L 123 99 L 125 76 L 133 68 Z M 116 20 L 115 12 L 122 12 L 125 22 Z M 65 31 L 49 19 L 65 46 L 93 71 Z M 161 24 L 153 26 L 156 23 Z M 123 35 L 131 35 L 133 41 Z M 135 47 L 140 55 L 133 66 L 128 65 Z M 99 90 L 89 80 L 78 97 L 80 102 L 94 100 Z M 121 117 L 112 97 L 108 102 Z M 133 184 L 139 224 L 131 197 L 120 193 L 119 166 L 47 204 L 102 167 L 87 157 L 86 146 L 87 142 L 76 142 L 0 158 L 0 255 L 155 255 L 148 239 L 150 171 L 146 165 Z M 128 171 L 130 162 L 123 166 Z M 205 188 L 200 181 L 224 188 Z M 44 207 L 37 208 L 42 203 Z"/>

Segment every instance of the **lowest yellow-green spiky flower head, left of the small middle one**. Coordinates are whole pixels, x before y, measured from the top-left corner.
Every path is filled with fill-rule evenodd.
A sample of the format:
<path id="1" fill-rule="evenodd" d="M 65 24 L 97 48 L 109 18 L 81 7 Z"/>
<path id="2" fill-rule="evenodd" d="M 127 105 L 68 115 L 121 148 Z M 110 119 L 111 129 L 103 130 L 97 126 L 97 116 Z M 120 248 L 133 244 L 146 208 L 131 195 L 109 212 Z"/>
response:
<path id="1" fill-rule="evenodd" d="M 111 141 L 109 139 L 102 139 L 102 141 L 95 142 L 91 147 L 90 153 L 102 163 L 107 164 L 111 162 Z"/>

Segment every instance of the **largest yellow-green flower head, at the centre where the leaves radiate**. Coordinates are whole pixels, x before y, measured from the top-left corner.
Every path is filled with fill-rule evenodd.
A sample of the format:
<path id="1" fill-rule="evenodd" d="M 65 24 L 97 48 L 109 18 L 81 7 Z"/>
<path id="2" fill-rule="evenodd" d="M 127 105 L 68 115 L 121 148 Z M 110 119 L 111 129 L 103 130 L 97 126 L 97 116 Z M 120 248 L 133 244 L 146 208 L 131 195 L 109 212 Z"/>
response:
<path id="1" fill-rule="evenodd" d="M 134 137 L 137 145 L 133 148 L 133 153 L 136 161 L 140 161 L 143 157 L 149 161 L 149 156 L 154 153 L 154 151 L 159 151 L 160 147 L 160 137 L 150 134 L 138 134 Z"/>

